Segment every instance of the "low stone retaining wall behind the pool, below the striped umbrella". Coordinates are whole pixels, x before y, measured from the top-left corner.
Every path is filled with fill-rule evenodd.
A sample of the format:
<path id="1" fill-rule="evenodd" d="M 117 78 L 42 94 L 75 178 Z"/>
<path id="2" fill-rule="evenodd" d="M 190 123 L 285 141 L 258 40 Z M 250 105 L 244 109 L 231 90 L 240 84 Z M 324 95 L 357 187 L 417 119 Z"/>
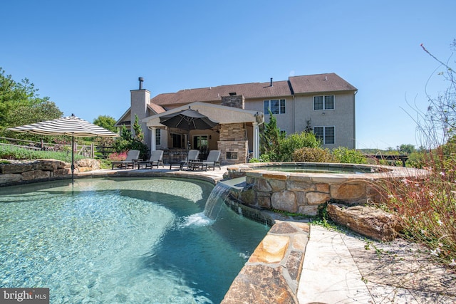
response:
<path id="1" fill-rule="evenodd" d="M 56 159 L 4 160 L 4 162 L 9 163 L 0 164 L 0 187 L 71 177 L 71 164 Z M 80 159 L 75 162 L 74 172 L 76 174 L 98 169 L 100 169 L 98 160 Z"/>

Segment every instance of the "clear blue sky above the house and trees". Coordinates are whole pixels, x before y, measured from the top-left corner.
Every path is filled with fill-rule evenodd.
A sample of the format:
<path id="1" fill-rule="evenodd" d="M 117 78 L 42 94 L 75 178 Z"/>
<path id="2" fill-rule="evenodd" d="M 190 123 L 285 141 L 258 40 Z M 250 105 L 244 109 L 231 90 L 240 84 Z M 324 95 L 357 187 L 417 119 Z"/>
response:
<path id="1" fill-rule="evenodd" d="M 358 88 L 356 147 L 420 145 L 407 101 L 425 110 L 431 76 L 428 93 L 445 88 L 420 43 L 447 61 L 455 11 L 455 0 L 2 1 L 0 67 L 90 122 L 123 115 L 140 76 L 155 96 L 337 73 Z"/>

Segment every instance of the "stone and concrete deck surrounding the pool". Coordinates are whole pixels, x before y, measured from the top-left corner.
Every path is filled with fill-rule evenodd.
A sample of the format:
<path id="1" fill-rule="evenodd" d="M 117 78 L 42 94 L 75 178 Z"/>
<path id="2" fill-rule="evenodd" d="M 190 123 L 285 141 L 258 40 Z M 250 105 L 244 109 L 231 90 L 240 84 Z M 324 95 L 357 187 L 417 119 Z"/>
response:
<path id="1" fill-rule="evenodd" d="M 103 169 L 76 177 L 190 177 L 218 182 L 224 172 L 227 166 L 194 172 L 167 167 Z M 274 216 L 276 224 L 222 303 L 456 303 L 455 271 L 432 263 L 429 251 L 417 244 L 400 239 L 380 243 Z"/>

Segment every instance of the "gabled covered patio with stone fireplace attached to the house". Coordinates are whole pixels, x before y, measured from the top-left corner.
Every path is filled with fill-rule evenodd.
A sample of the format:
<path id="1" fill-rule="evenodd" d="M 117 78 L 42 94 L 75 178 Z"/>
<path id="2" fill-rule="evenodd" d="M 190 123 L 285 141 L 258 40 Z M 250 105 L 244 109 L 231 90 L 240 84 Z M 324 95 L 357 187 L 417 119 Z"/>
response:
<path id="1" fill-rule="evenodd" d="M 192 130 L 190 138 L 186 130 L 166 127 L 160 123 L 160 117 L 171 113 L 180 112 L 190 108 L 206 115 L 210 120 L 218 122 L 216 127 L 207 130 Z M 234 108 L 226 105 L 211 103 L 189 103 L 178 108 L 173 108 L 157 115 L 145 117 L 142 122 L 152 130 L 150 150 L 157 150 L 157 133 L 161 137 L 159 150 L 172 157 L 180 157 L 180 152 L 189 149 L 200 150 L 202 155 L 209 150 L 220 150 L 220 160 L 224 164 L 239 164 L 247 162 L 249 157 L 259 158 L 259 125 L 264 122 L 262 112 Z"/>

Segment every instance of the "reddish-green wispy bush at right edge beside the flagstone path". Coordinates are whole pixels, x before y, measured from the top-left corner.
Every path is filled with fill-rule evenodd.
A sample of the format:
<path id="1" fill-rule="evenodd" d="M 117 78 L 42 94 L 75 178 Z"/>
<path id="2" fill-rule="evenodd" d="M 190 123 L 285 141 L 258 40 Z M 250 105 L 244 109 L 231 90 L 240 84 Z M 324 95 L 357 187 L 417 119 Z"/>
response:
<path id="1" fill-rule="evenodd" d="M 403 236 L 423 243 L 443 263 L 456 259 L 456 161 L 437 149 L 420 155 L 427 177 L 380 183 L 384 207 L 398 214 Z"/>

